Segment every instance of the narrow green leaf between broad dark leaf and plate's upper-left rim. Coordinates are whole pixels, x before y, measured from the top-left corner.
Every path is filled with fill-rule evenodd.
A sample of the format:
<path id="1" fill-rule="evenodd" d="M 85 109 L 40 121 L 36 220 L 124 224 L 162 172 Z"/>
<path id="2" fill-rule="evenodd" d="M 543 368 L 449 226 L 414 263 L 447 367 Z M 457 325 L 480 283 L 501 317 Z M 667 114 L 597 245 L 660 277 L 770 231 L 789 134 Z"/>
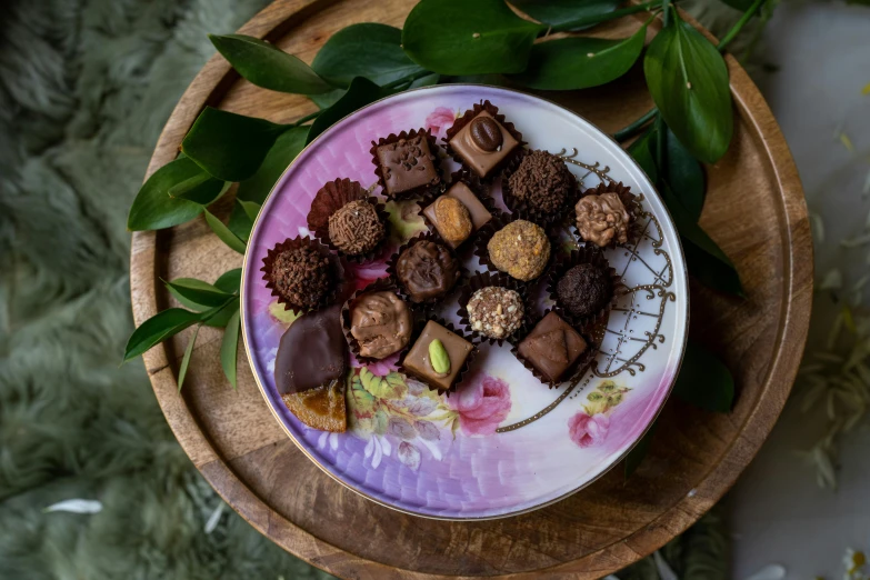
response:
<path id="1" fill-rule="evenodd" d="M 281 137 L 276 140 L 269 153 L 267 153 L 257 173 L 239 183 L 236 199 L 252 201 L 262 206 L 278 179 L 306 147 L 308 129 L 308 127 L 294 127 L 281 133 Z M 243 207 L 241 204 L 233 206 L 230 220 L 227 223 L 230 231 L 239 238 L 247 240 L 252 224 Z"/>

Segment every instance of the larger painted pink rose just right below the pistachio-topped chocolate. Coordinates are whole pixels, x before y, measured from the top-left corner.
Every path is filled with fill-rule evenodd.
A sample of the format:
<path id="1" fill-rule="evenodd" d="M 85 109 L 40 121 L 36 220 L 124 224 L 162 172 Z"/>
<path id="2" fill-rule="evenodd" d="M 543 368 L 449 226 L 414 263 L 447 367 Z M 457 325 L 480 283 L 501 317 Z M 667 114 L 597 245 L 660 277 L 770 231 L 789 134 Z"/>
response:
<path id="1" fill-rule="evenodd" d="M 510 388 L 501 379 L 478 374 L 449 403 L 459 412 L 463 433 L 492 434 L 510 412 Z"/>

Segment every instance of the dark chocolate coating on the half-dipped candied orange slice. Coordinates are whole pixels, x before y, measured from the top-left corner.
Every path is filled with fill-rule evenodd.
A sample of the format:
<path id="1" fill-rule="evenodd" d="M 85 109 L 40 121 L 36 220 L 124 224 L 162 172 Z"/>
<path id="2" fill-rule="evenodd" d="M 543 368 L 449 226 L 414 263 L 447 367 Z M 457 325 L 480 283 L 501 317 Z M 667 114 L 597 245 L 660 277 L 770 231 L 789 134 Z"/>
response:
<path id="1" fill-rule="evenodd" d="M 298 318 L 283 333 L 274 358 L 274 386 L 281 394 L 303 392 L 348 371 L 348 343 L 341 333 L 340 307 Z"/>

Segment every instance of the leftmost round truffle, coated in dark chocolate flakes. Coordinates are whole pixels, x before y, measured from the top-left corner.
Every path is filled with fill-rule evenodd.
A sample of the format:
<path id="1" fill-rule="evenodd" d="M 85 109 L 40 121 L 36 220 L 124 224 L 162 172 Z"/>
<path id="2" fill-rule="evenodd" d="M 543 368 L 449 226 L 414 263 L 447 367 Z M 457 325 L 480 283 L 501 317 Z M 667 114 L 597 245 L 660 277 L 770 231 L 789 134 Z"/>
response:
<path id="1" fill-rule="evenodd" d="M 269 274 L 284 300 L 304 308 L 319 306 L 334 282 L 329 258 L 307 246 L 276 256 Z"/>

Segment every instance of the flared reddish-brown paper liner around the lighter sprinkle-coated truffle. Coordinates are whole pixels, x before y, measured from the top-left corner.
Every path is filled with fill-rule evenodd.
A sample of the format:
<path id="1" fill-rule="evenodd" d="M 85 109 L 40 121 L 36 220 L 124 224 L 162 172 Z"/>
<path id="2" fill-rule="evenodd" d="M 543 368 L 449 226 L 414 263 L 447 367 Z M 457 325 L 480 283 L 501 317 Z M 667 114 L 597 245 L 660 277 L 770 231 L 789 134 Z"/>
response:
<path id="1" fill-rule="evenodd" d="M 350 256 L 332 243 L 329 237 L 329 218 L 338 210 L 351 201 L 366 200 L 374 207 L 378 219 L 384 227 L 383 238 L 370 251 L 361 254 Z M 369 196 L 362 186 L 350 179 L 337 179 L 326 183 L 314 196 L 311 202 L 311 209 L 308 212 L 308 229 L 311 230 L 321 243 L 329 247 L 330 250 L 338 252 L 349 262 L 364 263 L 371 261 L 383 252 L 384 242 L 390 237 L 390 214 L 387 213 L 387 207 L 378 198 Z"/>

